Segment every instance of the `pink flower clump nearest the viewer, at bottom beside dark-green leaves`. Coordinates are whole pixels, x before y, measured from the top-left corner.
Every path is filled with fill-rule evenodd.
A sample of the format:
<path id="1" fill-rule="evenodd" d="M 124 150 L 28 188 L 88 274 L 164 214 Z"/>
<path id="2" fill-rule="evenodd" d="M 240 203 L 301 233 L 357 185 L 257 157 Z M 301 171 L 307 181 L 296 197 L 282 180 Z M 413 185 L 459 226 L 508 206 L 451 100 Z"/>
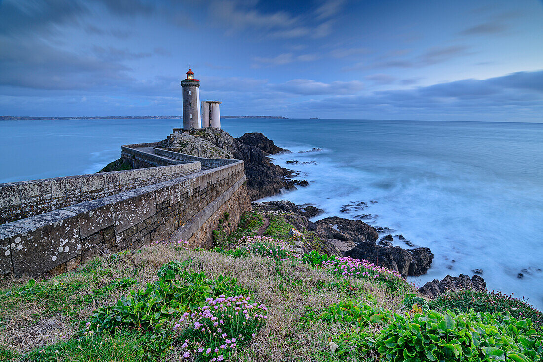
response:
<path id="1" fill-rule="evenodd" d="M 185 312 L 173 326 L 178 338 L 191 331 L 191 338 L 181 345 L 185 358 L 199 355 L 203 360 L 221 361 L 234 352 L 238 344 L 254 337 L 267 319 L 266 305 L 251 303 L 250 297 L 243 295 L 207 298 L 206 303 L 192 313 Z"/>

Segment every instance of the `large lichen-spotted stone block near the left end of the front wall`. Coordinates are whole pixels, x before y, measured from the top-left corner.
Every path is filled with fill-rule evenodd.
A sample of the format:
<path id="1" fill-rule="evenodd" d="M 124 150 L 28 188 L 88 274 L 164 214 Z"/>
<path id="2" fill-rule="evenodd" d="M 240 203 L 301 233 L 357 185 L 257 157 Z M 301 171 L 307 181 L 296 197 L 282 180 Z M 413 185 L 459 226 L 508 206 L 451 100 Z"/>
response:
<path id="1" fill-rule="evenodd" d="M 25 222 L 28 227 L 10 238 L 15 274 L 42 274 L 81 253 L 78 217 L 74 213 L 60 209 L 14 224 Z"/>

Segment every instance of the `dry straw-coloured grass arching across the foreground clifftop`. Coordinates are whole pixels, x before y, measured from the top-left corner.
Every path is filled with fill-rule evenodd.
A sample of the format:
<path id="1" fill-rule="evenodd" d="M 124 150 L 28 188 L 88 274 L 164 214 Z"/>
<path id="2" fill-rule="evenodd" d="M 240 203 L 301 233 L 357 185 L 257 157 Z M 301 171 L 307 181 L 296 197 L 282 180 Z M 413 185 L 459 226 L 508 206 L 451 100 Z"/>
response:
<path id="1" fill-rule="evenodd" d="M 31 349 L 56 344 L 62 336 L 77 334 L 80 321 L 88 320 L 92 311 L 101 305 L 115 304 L 127 290 L 113 290 L 100 294 L 100 290 L 112 279 L 132 277 L 141 288 L 157 280 L 157 270 L 171 260 L 190 260 L 187 270 L 204 272 L 208 278 L 219 275 L 238 278 L 238 285 L 252 291 L 252 298 L 268 305 L 266 327 L 251 341 L 248 348 L 239 352 L 237 360 L 247 361 L 300 361 L 325 360 L 327 338 L 337 333 L 339 326 L 320 322 L 305 327 L 300 316 L 306 308 L 321 310 L 334 302 L 356 299 L 375 307 L 396 310 L 403 295 L 391 295 L 383 285 L 372 280 L 352 279 L 355 288 L 346 294 L 337 288 L 342 278 L 323 270 L 312 270 L 305 265 L 276 265 L 274 261 L 260 257 L 232 258 L 228 255 L 207 251 L 184 251 L 174 245 L 156 245 L 141 252 L 122 255 L 117 261 L 103 257 L 78 269 L 49 280 L 37 280 L 40 284 L 64 283 L 65 290 L 57 295 L 28 298 L 7 290 L 18 290 L 27 278 L 4 279 L 0 283 L 0 348 L 16 351 L 19 355 Z M 85 302 L 87 296 L 96 295 Z M 10 347 L 11 346 L 11 347 Z M 17 360 L 13 358 L 12 360 Z"/>

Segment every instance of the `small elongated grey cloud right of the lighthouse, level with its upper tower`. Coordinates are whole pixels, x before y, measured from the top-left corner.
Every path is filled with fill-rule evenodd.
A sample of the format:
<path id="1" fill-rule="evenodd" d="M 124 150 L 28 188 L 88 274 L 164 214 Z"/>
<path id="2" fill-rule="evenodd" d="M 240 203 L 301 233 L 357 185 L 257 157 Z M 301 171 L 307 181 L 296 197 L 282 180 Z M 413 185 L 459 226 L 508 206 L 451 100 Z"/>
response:
<path id="1" fill-rule="evenodd" d="M 273 90 L 293 93 L 296 95 L 338 95 L 353 94 L 362 90 L 364 84 L 358 80 L 351 82 L 321 83 L 309 79 L 292 79 L 282 84 L 271 84 Z"/>

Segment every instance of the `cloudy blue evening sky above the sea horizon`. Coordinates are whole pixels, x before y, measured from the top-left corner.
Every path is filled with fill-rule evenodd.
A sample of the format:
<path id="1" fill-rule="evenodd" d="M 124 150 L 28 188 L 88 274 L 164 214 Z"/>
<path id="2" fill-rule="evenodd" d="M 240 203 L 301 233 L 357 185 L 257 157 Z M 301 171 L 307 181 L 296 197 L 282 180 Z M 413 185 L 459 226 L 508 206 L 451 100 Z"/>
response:
<path id="1" fill-rule="evenodd" d="M 543 1 L 0 0 L 0 115 L 543 122 Z"/>

